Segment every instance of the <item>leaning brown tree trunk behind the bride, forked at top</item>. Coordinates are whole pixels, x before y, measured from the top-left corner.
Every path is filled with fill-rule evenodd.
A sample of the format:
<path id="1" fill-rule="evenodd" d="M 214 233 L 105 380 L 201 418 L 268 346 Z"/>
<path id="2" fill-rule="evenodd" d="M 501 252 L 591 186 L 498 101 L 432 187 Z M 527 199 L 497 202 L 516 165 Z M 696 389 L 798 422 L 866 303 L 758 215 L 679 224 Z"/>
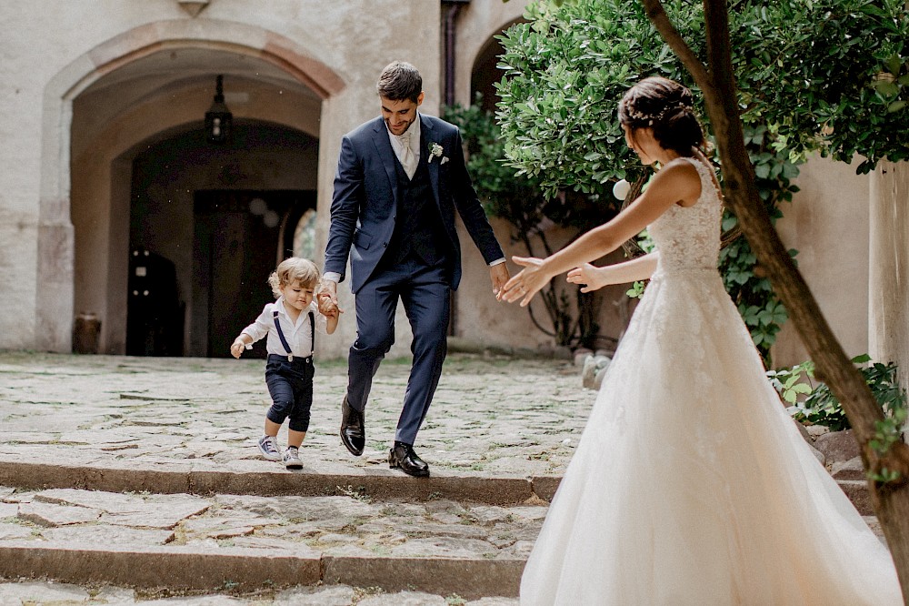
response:
<path id="1" fill-rule="evenodd" d="M 788 310 L 808 355 L 814 360 L 816 376 L 842 402 L 861 449 L 865 470 L 877 474 L 885 468 L 900 474 L 893 482 L 868 480 L 868 485 L 906 601 L 909 598 L 909 447 L 897 442 L 884 456 L 879 456 L 869 445 L 874 439 L 875 424 L 884 419 L 884 412 L 827 325 L 758 196 L 739 120 L 726 4 L 724 0 L 704 0 L 708 55 L 705 68 L 669 21 L 662 3 L 642 2 L 651 22 L 704 94 L 723 167 L 725 202 L 738 217 L 744 237 Z"/>

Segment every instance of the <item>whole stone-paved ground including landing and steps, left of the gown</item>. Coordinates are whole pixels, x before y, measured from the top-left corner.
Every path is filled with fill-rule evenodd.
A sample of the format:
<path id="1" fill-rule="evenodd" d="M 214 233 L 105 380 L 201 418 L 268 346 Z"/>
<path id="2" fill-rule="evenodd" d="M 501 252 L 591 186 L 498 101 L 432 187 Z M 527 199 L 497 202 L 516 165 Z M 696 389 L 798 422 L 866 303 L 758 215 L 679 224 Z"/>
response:
<path id="1" fill-rule="evenodd" d="M 34 574 L 35 559 L 59 579 L 115 553 L 120 559 L 102 578 L 123 581 L 22 579 L 0 584 L 0 604 L 516 603 L 483 596 L 516 592 L 546 501 L 532 492 L 502 504 L 454 500 L 448 493 L 457 490 L 448 488 L 475 480 L 502 492 L 508 480 L 560 476 L 594 400 L 578 369 L 451 356 L 415 445 L 432 467 L 435 483 L 426 483 L 388 470 L 385 459 L 405 360 L 386 360 L 376 376 L 362 458 L 337 437 L 345 365 L 317 363 L 299 472 L 261 460 L 255 448 L 269 404 L 263 368 L 262 360 L 0 353 L 0 472 L 23 480 L 0 488 L 0 558 L 21 561 L 7 568 L 23 576 Z M 46 470 L 61 469 L 54 487 L 21 485 L 28 474 L 52 478 Z M 117 471 L 143 479 L 146 490 L 79 490 Z M 195 494 L 155 488 L 166 474 L 194 473 L 220 475 Z M 219 490 L 217 482 L 230 478 L 245 478 L 243 490 Z M 323 480 L 321 488 L 295 494 L 304 478 Z M 279 480 L 284 488 L 275 490 Z M 420 492 L 424 486 L 434 490 Z M 244 559 L 242 571 L 231 568 L 232 557 Z M 128 560 L 122 574 L 121 560 Z M 148 571 L 167 576 L 155 583 Z M 400 586 L 389 571 L 406 572 Z M 193 594 L 206 574 L 231 594 L 216 593 L 210 581 L 205 595 Z M 511 588 L 495 591 L 504 582 L 496 576 Z M 255 587 L 264 580 L 265 590 Z M 189 595 L 167 597 L 168 586 L 189 587 L 179 591 Z"/>

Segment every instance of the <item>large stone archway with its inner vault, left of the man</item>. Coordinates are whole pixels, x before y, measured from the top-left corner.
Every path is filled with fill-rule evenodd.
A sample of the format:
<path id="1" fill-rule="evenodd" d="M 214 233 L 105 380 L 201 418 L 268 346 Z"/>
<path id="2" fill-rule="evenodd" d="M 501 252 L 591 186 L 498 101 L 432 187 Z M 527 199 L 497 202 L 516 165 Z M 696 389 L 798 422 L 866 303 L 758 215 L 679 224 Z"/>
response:
<path id="1" fill-rule="evenodd" d="M 115 36 L 45 87 L 37 347 L 68 351 L 75 312 L 85 310 L 102 321 L 100 350 L 123 353 L 125 319 L 115 319 L 123 305 L 112 293 L 126 288 L 132 158 L 137 146 L 196 127 L 216 73 L 245 86 L 227 99 L 237 118 L 314 137 L 322 102 L 344 88 L 332 69 L 283 36 L 184 20 Z"/>

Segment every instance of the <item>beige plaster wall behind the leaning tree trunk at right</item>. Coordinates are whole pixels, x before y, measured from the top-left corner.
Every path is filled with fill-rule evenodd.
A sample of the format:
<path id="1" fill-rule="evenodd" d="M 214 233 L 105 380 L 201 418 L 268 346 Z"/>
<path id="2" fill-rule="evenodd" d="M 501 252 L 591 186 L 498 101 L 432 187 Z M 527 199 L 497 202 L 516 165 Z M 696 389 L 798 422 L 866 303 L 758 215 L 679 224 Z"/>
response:
<path id="1" fill-rule="evenodd" d="M 795 181 L 801 191 L 776 228 L 795 248 L 799 271 L 846 355 L 868 353 L 869 177 L 855 166 L 812 157 Z M 773 349 L 774 367 L 803 362 L 808 354 L 791 322 Z"/>

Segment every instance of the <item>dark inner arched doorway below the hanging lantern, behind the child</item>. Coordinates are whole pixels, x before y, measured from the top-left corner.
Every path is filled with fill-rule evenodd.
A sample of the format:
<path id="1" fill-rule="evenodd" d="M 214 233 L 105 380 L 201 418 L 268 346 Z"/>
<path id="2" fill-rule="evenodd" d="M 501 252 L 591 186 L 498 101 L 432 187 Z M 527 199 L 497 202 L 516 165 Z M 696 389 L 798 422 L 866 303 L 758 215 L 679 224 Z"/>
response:
<path id="1" fill-rule="evenodd" d="M 199 128 L 144 146 L 132 161 L 125 353 L 229 355 L 315 210 L 317 155 L 314 137 L 255 121 L 225 146 Z"/>

